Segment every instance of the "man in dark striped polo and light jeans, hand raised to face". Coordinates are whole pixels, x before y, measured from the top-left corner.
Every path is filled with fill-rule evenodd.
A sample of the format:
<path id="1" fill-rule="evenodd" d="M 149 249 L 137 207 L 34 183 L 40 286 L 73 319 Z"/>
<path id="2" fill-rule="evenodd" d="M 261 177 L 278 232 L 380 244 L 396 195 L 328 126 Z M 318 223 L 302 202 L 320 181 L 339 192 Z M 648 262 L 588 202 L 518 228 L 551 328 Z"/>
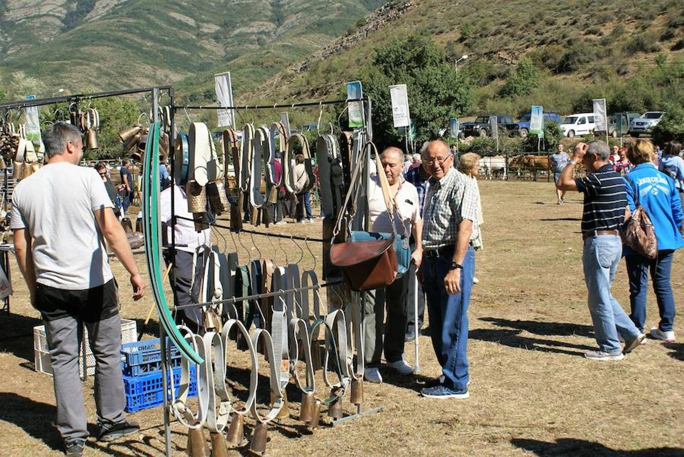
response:
<path id="1" fill-rule="evenodd" d="M 608 161 L 609 154 L 608 145 L 603 141 L 578 143 L 573 160 L 563 169 L 556 184 L 560 191 L 584 194 L 582 264 L 594 335 L 599 344 L 598 350 L 587 352 L 585 357 L 594 360 L 621 360 L 646 337 L 610 292 L 622 257 L 619 228 L 624 222 L 627 191 L 622 177 Z M 579 161 L 587 169 L 587 176 L 573 179 L 573 170 Z M 622 350 L 619 337 L 625 342 Z"/>

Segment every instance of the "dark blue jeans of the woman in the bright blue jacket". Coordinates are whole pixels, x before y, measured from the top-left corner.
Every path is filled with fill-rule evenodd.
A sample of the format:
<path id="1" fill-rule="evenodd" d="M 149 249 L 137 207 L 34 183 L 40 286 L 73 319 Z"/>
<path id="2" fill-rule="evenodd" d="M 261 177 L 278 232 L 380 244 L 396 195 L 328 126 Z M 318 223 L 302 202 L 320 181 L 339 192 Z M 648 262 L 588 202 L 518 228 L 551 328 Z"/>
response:
<path id="1" fill-rule="evenodd" d="M 627 275 L 629 277 L 629 304 L 632 314 L 629 318 L 643 332 L 646 322 L 646 292 L 648 288 L 648 271 L 653 278 L 653 292 L 658 301 L 660 311 L 660 323 L 658 328 L 662 331 L 671 331 L 674 323 L 674 294 L 670 283 L 670 271 L 672 270 L 672 249 L 658 251 L 655 260 L 648 260 L 639 254 L 624 256 L 627 262 Z"/>

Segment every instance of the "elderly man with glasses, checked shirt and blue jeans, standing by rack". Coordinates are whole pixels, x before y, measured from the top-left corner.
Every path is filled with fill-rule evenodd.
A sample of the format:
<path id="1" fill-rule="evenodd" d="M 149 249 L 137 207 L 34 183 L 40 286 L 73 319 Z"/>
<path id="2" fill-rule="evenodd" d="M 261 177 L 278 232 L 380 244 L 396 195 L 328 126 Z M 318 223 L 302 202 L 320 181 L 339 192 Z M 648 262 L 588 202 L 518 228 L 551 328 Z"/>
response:
<path id="1" fill-rule="evenodd" d="M 475 254 L 471 234 L 477 230 L 477 189 L 453 166 L 442 140 L 423 152 L 430 189 L 423 208 L 423 290 L 428 297 L 430 335 L 442 376 L 421 390 L 428 398 L 468 398 L 468 307 Z"/>

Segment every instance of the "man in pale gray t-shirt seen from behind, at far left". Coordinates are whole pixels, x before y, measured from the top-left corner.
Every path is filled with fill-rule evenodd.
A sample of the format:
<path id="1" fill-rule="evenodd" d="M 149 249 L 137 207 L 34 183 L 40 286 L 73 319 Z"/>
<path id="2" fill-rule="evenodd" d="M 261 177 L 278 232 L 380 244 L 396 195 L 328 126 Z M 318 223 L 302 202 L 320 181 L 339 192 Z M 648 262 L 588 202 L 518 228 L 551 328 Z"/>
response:
<path id="1" fill-rule="evenodd" d="M 78 456 L 88 438 L 78 361 L 83 325 L 96 361 L 98 440 L 112 441 L 139 430 L 123 413 L 121 318 L 105 240 L 131 275 L 133 299 L 142 298 L 144 280 L 100 176 L 78 165 L 81 132 L 57 122 L 42 139 L 49 163 L 22 180 L 12 195 L 14 249 L 31 305 L 45 324 L 57 430 L 66 454 Z"/>

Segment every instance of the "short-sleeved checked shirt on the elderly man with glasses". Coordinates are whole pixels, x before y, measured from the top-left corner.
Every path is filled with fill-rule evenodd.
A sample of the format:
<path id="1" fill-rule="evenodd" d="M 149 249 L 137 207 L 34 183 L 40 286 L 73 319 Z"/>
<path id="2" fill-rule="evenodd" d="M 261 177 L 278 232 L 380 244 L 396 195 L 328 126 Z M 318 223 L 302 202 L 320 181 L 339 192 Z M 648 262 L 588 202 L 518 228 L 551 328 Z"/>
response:
<path id="1" fill-rule="evenodd" d="M 423 247 L 456 245 L 458 224 L 463 219 L 474 222 L 473 236 L 477 237 L 477 188 L 473 180 L 452 167 L 440 180 L 430 178 L 423 208 Z"/>

